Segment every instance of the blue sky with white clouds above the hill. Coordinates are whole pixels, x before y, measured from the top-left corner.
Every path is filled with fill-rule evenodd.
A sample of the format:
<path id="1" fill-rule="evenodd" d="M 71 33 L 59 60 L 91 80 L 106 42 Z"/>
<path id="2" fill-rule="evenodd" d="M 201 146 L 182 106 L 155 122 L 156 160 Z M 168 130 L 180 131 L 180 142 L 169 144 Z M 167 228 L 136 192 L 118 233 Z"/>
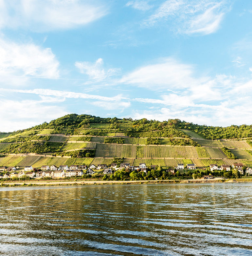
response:
<path id="1" fill-rule="evenodd" d="M 66 114 L 252 124 L 251 0 L 0 0 L 0 131 Z"/>

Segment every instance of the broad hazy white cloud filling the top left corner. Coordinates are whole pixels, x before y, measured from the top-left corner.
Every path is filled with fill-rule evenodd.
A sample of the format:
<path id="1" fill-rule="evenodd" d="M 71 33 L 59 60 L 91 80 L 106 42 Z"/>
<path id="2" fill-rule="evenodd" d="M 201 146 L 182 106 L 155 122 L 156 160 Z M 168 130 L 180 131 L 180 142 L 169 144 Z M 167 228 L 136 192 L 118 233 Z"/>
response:
<path id="1" fill-rule="evenodd" d="M 88 24 L 107 13 L 98 1 L 0 0 L 0 28 L 28 27 L 44 32 Z"/>

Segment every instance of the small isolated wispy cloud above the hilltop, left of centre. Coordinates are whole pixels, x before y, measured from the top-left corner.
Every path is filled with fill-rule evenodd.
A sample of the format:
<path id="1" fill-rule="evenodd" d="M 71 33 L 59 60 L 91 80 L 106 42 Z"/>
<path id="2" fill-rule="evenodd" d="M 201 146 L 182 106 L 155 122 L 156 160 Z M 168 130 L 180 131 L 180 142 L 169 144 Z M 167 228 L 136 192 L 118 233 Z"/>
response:
<path id="1" fill-rule="evenodd" d="M 120 72 L 119 68 L 105 69 L 102 58 L 99 58 L 95 63 L 88 61 L 76 61 L 75 66 L 80 70 L 82 74 L 86 74 L 91 79 L 98 81 L 104 80 L 105 78 L 116 75 Z"/>

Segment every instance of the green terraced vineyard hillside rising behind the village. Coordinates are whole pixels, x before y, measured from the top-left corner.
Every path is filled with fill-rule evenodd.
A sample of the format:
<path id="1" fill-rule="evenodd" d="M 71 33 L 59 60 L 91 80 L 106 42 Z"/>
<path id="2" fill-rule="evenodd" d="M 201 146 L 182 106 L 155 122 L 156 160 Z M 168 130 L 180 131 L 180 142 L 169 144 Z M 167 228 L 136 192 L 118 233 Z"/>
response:
<path id="1" fill-rule="evenodd" d="M 114 157 L 138 165 L 242 162 L 252 166 L 252 126 L 203 126 L 179 119 L 66 115 L 25 130 L 0 133 L 0 166 L 110 164 Z"/>

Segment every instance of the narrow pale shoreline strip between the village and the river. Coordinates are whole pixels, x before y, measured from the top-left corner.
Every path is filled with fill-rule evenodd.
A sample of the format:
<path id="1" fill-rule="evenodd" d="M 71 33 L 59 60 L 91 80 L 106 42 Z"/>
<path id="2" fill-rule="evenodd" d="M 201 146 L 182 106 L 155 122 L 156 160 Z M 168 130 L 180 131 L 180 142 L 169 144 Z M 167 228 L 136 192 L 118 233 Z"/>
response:
<path id="1" fill-rule="evenodd" d="M 71 186 L 71 185 L 115 185 L 115 184 L 165 184 L 165 183 L 224 183 L 224 182 L 252 182 L 250 179 L 211 179 L 211 180 L 150 180 L 150 181 L 7 181 L 1 182 L 0 187 L 16 186 Z"/>

